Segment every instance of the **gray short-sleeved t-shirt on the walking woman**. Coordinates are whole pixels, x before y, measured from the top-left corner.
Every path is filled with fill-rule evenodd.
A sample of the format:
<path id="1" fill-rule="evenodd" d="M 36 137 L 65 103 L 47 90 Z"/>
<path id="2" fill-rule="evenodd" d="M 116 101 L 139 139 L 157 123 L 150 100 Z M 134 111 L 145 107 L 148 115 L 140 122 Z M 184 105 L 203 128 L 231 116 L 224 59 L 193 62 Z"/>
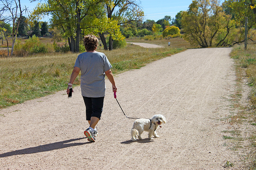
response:
<path id="1" fill-rule="evenodd" d="M 107 56 L 100 52 L 78 55 L 74 67 L 81 70 L 81 91 L 84 97 L 105 96 L 105 71 L 112 68 Z"/>

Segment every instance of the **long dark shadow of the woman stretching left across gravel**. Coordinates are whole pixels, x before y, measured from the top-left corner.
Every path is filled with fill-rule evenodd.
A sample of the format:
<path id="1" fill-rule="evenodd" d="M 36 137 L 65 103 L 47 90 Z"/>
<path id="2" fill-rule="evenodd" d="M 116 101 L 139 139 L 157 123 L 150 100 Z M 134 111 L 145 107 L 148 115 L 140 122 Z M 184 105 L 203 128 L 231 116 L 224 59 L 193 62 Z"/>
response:
<path id="1" fill-rule="evenodd" d="M 81 137 L 81 138 L 77 138 L 77 139 L 69 139 L 69 140 L 65 140 L 65 141 L 61 141 L 61 142 L 55 142 L 52 144 L 44 144 L 44 145 L 40 145 L 40 146 L 36 146 L 36 147 L 32 147 L 32 148 L 25 148 L 25 149 L 12 151 L 12 152 L 6 152 L 6 153 L 0 154 L 0 158 L 13 156 L 13 155 L 24 155 L 24 154 L 31 154 L 31 153 L 47 152 L 47 151 L 52 151 L 52 150 L 56 150 L 56 149 L 68 148 L 71 146 L 79 146 L 79 145 L 83 145 L 86 143 L 88 143 L 88 144 L 91 143 L 91 142 L 86 142 L 86 143 L 67 144 L 69 142 L 81 140 L 84 138 L 86 138 L 86 137 Z"/>

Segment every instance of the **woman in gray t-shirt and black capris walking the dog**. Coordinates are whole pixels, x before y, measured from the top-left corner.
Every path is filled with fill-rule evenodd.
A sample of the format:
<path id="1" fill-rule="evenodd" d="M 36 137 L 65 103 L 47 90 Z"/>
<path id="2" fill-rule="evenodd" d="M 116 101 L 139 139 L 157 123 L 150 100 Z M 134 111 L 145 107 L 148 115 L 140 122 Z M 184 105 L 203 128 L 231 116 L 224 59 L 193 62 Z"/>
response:
<path id="1" fill-rule="evenodd" d="M 84 36 L 84 46 L 86 52 L 78 55 L 70 81 L 68 83 L 67 94 L 70 92 L 76 77 L 81 71 L 81 92 L 86 107 L 86 120 L 90 127 L 84 131 L 84 135 L 90 142 L 95 142 L 98 135 L 95 126 L 100 120 L 105 97 L 105 75 L 112 84 L 113 92 L 117 90 L 111 64 L 104 53 L 97 52 L 99 40 L 94 35 Z M 73 90 L 72 90 L 73 92 Z"/>

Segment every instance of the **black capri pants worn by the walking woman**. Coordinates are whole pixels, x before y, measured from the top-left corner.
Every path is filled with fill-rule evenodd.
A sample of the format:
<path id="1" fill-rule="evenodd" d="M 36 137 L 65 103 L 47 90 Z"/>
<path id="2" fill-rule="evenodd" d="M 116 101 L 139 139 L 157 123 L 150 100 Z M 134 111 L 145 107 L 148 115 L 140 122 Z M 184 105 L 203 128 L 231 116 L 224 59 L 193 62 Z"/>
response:
<path id="1" fill-rule="evenodd" d="M 100 119 L 104 97 L 84 97 L 84 104 L 86 107 L 86 120 L 90 121 L 91 117 L 98 117 Z"/>

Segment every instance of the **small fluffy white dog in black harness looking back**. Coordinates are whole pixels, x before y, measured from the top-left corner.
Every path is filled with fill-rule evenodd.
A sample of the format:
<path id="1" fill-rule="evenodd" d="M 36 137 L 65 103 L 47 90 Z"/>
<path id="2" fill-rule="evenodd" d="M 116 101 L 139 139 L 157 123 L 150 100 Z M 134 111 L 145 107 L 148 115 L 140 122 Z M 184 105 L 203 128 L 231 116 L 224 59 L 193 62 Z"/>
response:
<path id="1" fill-rule="evenodd" d="M 166 123 L 165 117 L 163 115 L 154 115 L 151 119 L 137 119 L 136 121 L 134 121 L 131 130 L 132 141 L 136 141 L 137 137 L 139 137 L 139 139 L 142 139 L 141 134 L 143 133 L 143 131 L 148 132 L 149 139 L 152 139 L 152 136 L 159 137 L 156 134 L 156 129 L 162 123 Z"/>

